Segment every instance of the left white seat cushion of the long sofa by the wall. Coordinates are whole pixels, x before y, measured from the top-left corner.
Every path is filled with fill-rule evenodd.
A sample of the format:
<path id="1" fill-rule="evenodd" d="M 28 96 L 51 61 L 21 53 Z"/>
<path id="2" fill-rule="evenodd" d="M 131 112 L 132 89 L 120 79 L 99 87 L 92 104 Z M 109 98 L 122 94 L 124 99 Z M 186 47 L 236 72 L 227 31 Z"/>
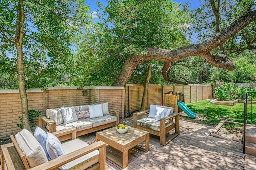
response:
<path id="1" fill-rule="evenodd" d="M 86 119 L 82 119 L 82 120 L 78 120 L 78 121 L 73 121 L 66 125 L 64 125 L 64 124 L 58 125 L 58 126 L 56 126 L 56 131 L 61 131 L 64 129 L 68 129 L 70 127 L 76 128 L 77 131 L 92 128 L 92 123 L 85 121 L 85 120 Z"/>

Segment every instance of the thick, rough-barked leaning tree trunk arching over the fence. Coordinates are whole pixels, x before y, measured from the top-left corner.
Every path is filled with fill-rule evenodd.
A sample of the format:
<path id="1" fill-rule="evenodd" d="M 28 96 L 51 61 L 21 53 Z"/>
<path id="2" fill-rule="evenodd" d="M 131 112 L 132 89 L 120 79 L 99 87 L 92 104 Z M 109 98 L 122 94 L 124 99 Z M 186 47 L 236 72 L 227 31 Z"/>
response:
<path id="1" fill-rule="evenodd" d="M 256 11 L 249 11 L 246 15 L 241 16 L 237 21 L 226 27 L 226 29 L 220 31 L 220 33 L 215 34 L 202 43 L 188 45 L 175 50 L 151 47 L 145 48 L 144 50 L 147 52 L 146 55 L 131 55 L 127 57 L 118 78 L 113 82 L 112 86 L 124 86 L 129 81 L 134 68 L 139 63 L 152 59 L 164 61 L 165 65 L 170 65 L 171 62 L 178 61 L 186 57 L 202 56 L 209 64 L 232 71 L 234 70 L 234 64 L 228 56 L 224 54 L 212 54 L 211 51 L 226 42 L 238 33 L 238 31 L 242 30 L 253 21 L 256 21 Z M 168 76 L 166 76 L 167 73 L 166 69 L 162 71 L 165 79 L 168 78 Z"/>

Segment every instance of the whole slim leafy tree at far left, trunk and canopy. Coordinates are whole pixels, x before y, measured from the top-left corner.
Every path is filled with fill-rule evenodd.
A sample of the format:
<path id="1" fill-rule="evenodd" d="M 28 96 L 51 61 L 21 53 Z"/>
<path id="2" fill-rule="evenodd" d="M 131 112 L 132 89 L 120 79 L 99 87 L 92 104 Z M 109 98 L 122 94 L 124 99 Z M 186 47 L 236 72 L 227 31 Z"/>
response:
<path id="1" fill-rule="evenodd" d="M 26 88 L 45 87 L 70 63 L 73 29 L 78 31 L 87 12 L 82 1 L 1 2 L 1 63 L 18 75 L 23 128 L 30 130 Z M 6 77 L 6 69 L 1 70 Z"/>

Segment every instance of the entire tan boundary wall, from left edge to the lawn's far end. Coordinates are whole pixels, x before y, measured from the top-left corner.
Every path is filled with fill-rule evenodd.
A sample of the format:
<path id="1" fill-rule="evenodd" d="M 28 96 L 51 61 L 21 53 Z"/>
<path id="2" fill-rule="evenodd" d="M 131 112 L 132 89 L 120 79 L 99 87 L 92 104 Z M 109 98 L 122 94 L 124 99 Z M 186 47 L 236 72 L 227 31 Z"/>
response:
<path id="1" fill-rule="evenodd" d="M 58 108 L 68 106 L 80 106 L 94 103 L 108 102 L 110 109 L 120 112 L 120 118 L 125 113 L 132 113 L 140 109 L 143 86 L 127 84 L 125 87 L 112 86 L 86 86 L 84 94 L 78 87 L 49 87 L 47 90 L 29 89 L 28 107 L 42 112 L 45 115 L 47 108 Z M 185 104 L 205 100 L 212 96 L 211 85 L 161 85 L 150 84 L 148 88 L 145 109 L 150 104 L 162 105 L 164 93 L 173 90 L 174 92 L 185 93 Z M 20 129 L 16 127 L 20 123 L 21 103 L 18 90 L 0 90 L 0 139 L 8 138 L 16 134 Z"/>

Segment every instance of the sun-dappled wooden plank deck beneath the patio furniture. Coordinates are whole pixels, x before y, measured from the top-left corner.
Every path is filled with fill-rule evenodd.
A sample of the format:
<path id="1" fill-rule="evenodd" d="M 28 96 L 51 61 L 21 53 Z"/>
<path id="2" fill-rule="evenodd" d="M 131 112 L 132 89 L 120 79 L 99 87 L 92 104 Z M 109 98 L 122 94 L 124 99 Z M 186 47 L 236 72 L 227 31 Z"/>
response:
<path id="1" fill-rule="evenodd" d="M 132 125 L 132 117 L 120 119 Z M 124 170 L 255 170 L 256 156 L 243 154 L 242 144 L 209 136 L 214 127 L 180 121 L 180 135 L 166 146 L 160 137 L 150 135 L 150 150 L 129 150 L 129 164 Z M 78 137 L 88 144 L 96 133 Z M 111 150 L 121 156 L 116 150 Z M 122 168 L 106 159 L 106 170 Z"/>

